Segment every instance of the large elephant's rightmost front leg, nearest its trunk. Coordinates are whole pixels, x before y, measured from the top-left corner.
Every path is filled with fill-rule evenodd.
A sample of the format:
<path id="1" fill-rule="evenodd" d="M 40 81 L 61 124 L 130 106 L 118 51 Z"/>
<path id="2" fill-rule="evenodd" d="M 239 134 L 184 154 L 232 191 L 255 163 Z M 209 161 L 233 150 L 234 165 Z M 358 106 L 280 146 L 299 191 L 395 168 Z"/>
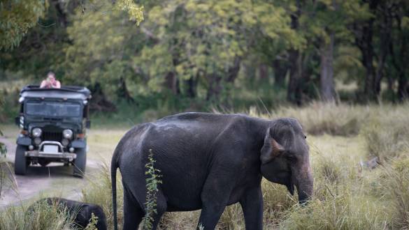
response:
<path id="1" fill-rule="evenodd" d="M 247 190 L 240 200 L 243 208 L 245 229 L 261 230 L 263 229 L 263 194 L 261 187 L 253 187 Z"/>

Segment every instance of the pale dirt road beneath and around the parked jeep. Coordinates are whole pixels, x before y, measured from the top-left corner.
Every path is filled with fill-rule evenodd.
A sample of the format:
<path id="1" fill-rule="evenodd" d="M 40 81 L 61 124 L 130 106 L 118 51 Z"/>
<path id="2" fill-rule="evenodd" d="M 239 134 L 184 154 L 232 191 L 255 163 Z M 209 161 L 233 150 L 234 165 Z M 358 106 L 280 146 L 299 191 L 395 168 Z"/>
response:
<path id="1" fill-rule="evenodd" d="M 3 131 L 4 132 L 4 131 Z M 101 132 L 101 130 L 89 132 L 87 153 L 86 174 L 92 176 L 99 169 L 100 162 L 107 161 L 113 153 L 117 140 L 120 139 L 124 131 Z M 0 141 L 8 148 L 7 161 L 14 163 L 15 158 L 15 137 L 14 133 L 6 133 L 5 137 L 0 137 Z M 101 141 L 102 139 L 108 139 Z M 13 169 L 10 169 L 13 170 Z M 3 187 L 0 196 L 0 208 L 4 206 L 18 204 L 20 201 L 37 199 L 45 196 L 58 196 L 67 199 L 79 199 L 81 190 L 89 183 L 89 178 L 75 178 L 72 176 L 72 166 L 64 167 L 62 164 L 52 163 L 48 167 L 29 167 L 27 175 L 13 176 Z"/>

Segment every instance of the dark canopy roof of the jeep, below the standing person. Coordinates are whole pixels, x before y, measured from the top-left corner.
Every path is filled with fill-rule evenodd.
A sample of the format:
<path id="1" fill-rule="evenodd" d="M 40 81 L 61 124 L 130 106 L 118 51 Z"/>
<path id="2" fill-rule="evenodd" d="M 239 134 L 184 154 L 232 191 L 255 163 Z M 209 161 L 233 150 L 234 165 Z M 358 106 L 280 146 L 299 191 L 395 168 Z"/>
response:
<path id="1" fill-rule="evenodd" d="M 22 98 L 62 98 L 87 100 L 91 98 L 89 89 L 81 86 L 62 86 L 60 89 L 45 89 L 38 85 L 25 86 L 20 91 Z"/>

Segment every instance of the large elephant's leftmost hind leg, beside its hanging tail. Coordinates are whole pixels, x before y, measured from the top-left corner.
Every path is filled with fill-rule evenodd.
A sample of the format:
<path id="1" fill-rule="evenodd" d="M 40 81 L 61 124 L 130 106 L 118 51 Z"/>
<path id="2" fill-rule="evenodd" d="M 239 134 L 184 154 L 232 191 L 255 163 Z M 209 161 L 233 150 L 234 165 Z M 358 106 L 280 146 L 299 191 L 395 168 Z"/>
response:
<path id="1" fill-rule="evenodd" d="M 138 229 L 144 215 L 141 205 L 124 187 L 124 230 Z"/>

